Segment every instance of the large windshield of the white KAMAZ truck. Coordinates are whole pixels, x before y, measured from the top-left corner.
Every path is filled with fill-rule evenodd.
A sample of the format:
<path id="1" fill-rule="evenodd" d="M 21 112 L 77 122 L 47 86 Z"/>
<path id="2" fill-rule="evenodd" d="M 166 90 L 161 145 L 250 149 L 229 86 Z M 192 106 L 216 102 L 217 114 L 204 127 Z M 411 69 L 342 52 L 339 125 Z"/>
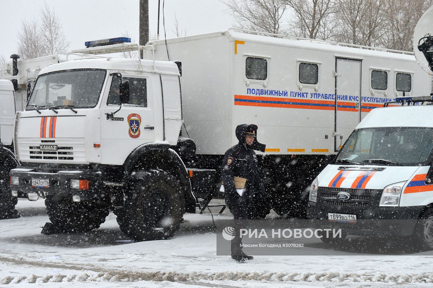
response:
<path id="1" fill-rule="evenodd" d="M 106 70 L 68 70 L 41 75 L 35 83 L 26 110 L 93 108 L 96 106 Z"/>

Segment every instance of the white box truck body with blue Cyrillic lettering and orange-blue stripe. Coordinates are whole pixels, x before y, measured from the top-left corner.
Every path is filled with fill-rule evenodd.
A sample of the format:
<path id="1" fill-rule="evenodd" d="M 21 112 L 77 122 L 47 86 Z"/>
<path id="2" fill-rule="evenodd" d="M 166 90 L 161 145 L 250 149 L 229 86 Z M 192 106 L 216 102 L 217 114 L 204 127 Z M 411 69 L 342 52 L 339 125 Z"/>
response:
<path id="1" fill-rule="evenodd" d="M 220 162 L 237 125 L 259 126 L 262 178 L 280 215 L 305 215 L 305 189 L 369 111 L 431 91 L 411 52 L 242 29 L 148 45 L 156 59 L 182 62 L 184 122 L 199 157 Z"/>

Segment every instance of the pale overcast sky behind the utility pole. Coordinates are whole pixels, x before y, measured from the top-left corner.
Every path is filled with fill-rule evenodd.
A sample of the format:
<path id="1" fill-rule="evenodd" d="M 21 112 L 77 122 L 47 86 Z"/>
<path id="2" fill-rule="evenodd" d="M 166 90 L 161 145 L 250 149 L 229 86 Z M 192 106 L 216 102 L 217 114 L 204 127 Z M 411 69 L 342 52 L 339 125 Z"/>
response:
<path id="1" fill-rule="evenodd" d="M 162 26 L 162 1 L 160 38 Z M 81 49 L 84 42 L 119 37 L 123 32 L 139 41 L 139 0 L 46 0 L 61 19 L 69 49 Z M 38 19 L 43 0 L 0 0 L 0 55 L 6 62 L 17 53 L 18 32 L 23 19 Z M 167 38 L 175 37 L 174 12 L 179 29 L 187 35 L 223 31 L 233 26 L 234 20 L 226 13 L 226 5 L 219 0 L 165 0 L 165 29 Z M 158 0 L 149 0 L 149 31 L 156 34 Z"/>

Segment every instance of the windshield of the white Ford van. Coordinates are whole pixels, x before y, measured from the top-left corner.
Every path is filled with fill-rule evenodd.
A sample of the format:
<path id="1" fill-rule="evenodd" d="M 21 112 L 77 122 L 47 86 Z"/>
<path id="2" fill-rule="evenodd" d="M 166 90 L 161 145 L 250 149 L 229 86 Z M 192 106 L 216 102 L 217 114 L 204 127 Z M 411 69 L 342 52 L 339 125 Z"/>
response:
<path id="1" fill-rule="evenodd" d="M 364 128 L 350 135 L 336 162 L 425 166 L 430 165 L 432 148 L 433 128 Z"/>

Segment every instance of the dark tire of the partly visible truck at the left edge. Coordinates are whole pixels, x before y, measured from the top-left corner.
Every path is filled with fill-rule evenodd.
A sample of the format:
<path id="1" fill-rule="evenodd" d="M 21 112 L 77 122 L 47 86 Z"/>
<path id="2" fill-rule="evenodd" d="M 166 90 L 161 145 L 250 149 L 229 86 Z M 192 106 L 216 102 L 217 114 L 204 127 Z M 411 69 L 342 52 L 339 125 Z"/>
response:
<path id="1" fill-rule="evenodd" d="M 16 168 L 17 163 L 12 152 L 0 147 L 0 219 L 19 218 L 19 213 L 15 210 L 18 198 L 12 196 L 9 182 L 9 171 Z"/>

